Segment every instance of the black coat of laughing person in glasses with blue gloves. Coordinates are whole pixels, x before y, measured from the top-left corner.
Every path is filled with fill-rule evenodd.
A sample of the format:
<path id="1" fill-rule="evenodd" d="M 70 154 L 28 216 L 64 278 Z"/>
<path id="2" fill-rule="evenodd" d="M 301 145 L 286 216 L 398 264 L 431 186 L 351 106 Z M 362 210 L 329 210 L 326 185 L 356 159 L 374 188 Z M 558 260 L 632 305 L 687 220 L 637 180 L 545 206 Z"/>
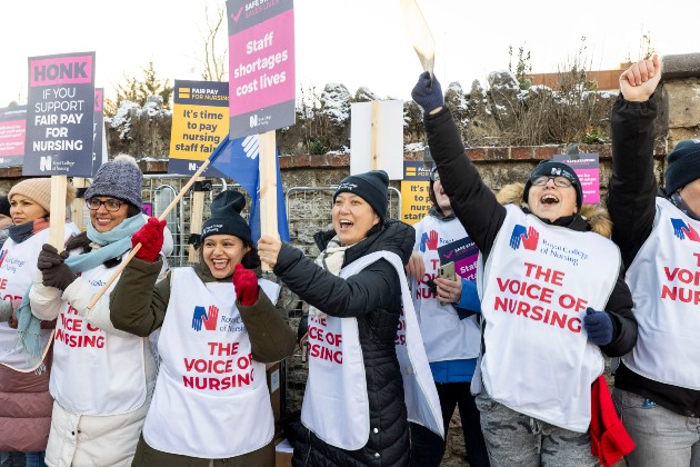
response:
<path id="1" fill-rule="evenodd" d="M 430 153 L 438 163 L 444 192 L 450 197 L 457 218 L 477 244 L 486 261 L 506 219 L 506 208 L 498 202 L 491 189 L 481 179 L 477 167 L 464 155 L 464 146 L 457 125 L 447 107 L 434 115 L 426 116 L 426 130 Z M 527 209 L 523 210 L 527 212 Z M 560 218 L 554 222 L 540 220 L 578 231 L 591 230 L 588 220 L 579 215 Z M 612 341 L 600 349 L 609 357 L 622 356 L 637 342 L 632 296 L 624 282 L 622 269 L 604 310 L 612 318 L 614 329 Z"/>

